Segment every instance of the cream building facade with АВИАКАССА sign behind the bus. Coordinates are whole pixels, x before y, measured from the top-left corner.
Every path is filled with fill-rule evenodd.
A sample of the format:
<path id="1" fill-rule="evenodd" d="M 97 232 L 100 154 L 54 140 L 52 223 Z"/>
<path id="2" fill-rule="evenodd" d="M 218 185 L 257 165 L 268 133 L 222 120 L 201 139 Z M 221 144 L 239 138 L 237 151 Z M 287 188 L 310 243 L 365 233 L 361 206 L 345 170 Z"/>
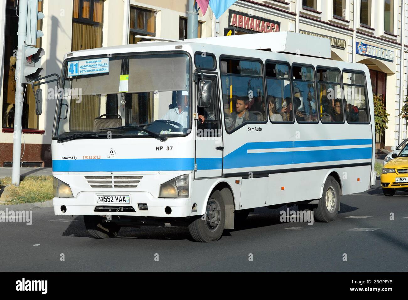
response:
<path id="1" fill-rule="evenodd" d="M 17 0 L 0 7 L 0 167 L 11 166 L 15 98 Z M 45 18 L 38 22 L 44 36 L 45 73 L 60 74 L 62 57 L 70 51 L 132 44 L 143 36 L 172 40 L 187 37 L 188 0 L 43 0 Z M 408 0 L 237 0 L 219 19 L 210 8 L 199 11 L 199 37 L 294 31 L 329 38 L 333 60 L 359 62 L 370 69 L 373 93 L 390 114 L 388 129 L 377 134 L 378 148 L 396 146 L 406 138 L 399 117 L 407 96 Z M 299 53 L 301 54 L 301 53 Z M 22 165 L 51 165 L 51 132 L 56 101 L 44 90 L 43 113 L 35 115 L 33 93 L 23 104 Z M 52 97 L 51 97 L 52 98 Z"/>

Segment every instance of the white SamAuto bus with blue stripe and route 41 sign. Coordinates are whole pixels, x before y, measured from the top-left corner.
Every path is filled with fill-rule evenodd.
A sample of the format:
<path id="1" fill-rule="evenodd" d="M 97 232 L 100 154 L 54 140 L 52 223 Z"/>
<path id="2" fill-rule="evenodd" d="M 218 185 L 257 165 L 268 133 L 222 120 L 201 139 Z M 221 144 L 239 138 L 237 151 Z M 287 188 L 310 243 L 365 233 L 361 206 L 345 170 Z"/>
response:
<path id="1" fill-rule="evenodd" d="M 375 147 L 368 68 L 329 58 L 328 40 L 290 32 L 67 53 L 55 214 L 95 238 L 162 225 L 201 242 L 255 207 L 333 221 L 375 182 Z"/>

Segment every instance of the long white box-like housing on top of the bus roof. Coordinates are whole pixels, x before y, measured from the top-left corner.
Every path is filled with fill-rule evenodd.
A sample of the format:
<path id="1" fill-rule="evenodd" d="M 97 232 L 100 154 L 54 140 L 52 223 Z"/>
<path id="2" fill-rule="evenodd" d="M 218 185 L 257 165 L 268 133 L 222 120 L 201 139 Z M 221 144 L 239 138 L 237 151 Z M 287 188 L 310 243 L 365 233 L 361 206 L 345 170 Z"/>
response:
<path id="1" fill-rule="evenodd" d="M 329 39 L 302 33 L 295 33 L 292 31 L 188 39 L 184 40 L 184 42 L 195 42 L 254 50 L 270 49 L 270 51 L 273 52 L 331 58 Z"/>

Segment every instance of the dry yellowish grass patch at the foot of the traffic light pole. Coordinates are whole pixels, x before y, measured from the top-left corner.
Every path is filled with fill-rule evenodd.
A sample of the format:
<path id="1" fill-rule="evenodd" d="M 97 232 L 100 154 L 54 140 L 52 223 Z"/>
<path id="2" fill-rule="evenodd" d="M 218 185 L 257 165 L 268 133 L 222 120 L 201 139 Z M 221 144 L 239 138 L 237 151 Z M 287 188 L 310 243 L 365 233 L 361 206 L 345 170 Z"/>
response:
<path id="1" fill-rule="evenodd" d="M 6 204 L 44 202 L 53 199 L 52 176 L 27 176 L 20 181 L 20 186 L 9 188 L 11 200 Z M 11 184 L 11 178 L 0 179 L 0 186 Z"/>

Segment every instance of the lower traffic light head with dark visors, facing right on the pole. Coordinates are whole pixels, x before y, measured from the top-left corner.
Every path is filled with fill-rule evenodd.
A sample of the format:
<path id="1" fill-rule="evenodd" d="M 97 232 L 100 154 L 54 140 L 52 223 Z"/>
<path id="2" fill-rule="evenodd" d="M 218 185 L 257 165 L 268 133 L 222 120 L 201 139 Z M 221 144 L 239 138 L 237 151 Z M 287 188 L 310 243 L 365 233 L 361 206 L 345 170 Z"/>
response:
<path id="1" fill-rule="evenodd" d="M 23 46 L 23 63 L 21 69 L 21 83 L 31 83 L 44 71 L 41 68 L 41 56 L 45 54 L 44 49 L 31 46 Z"/>

